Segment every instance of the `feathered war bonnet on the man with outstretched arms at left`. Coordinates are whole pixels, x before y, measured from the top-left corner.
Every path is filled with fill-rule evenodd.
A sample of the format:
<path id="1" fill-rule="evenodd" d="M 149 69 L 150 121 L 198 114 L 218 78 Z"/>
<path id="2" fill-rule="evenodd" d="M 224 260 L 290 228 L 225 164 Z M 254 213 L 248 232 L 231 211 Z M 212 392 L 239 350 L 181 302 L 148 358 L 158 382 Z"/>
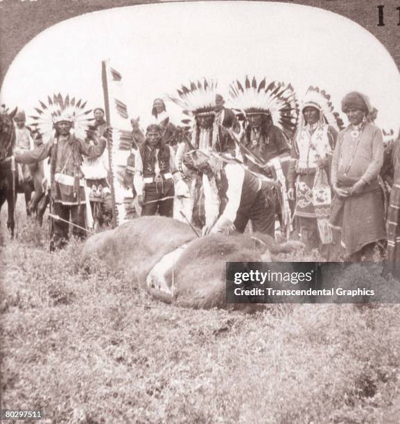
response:
<path id="1" fill-rule="evenodd" d="M 32 127 L 42 134 L 44 142 L 53 136 L 53 130 L 57 123 L 69 122 L 72 124 L 73 132 L 80 139 L 85 139 L 93 118 L 88 118 L 92 110 L 85 110 L 86 103 L 76 100 L 69 95 L 62 98 L 61 94 L 47 97 L 47 104 L 40 101 L 40 107 L 35 107 L 37 115 L 31 116 Z"/>

